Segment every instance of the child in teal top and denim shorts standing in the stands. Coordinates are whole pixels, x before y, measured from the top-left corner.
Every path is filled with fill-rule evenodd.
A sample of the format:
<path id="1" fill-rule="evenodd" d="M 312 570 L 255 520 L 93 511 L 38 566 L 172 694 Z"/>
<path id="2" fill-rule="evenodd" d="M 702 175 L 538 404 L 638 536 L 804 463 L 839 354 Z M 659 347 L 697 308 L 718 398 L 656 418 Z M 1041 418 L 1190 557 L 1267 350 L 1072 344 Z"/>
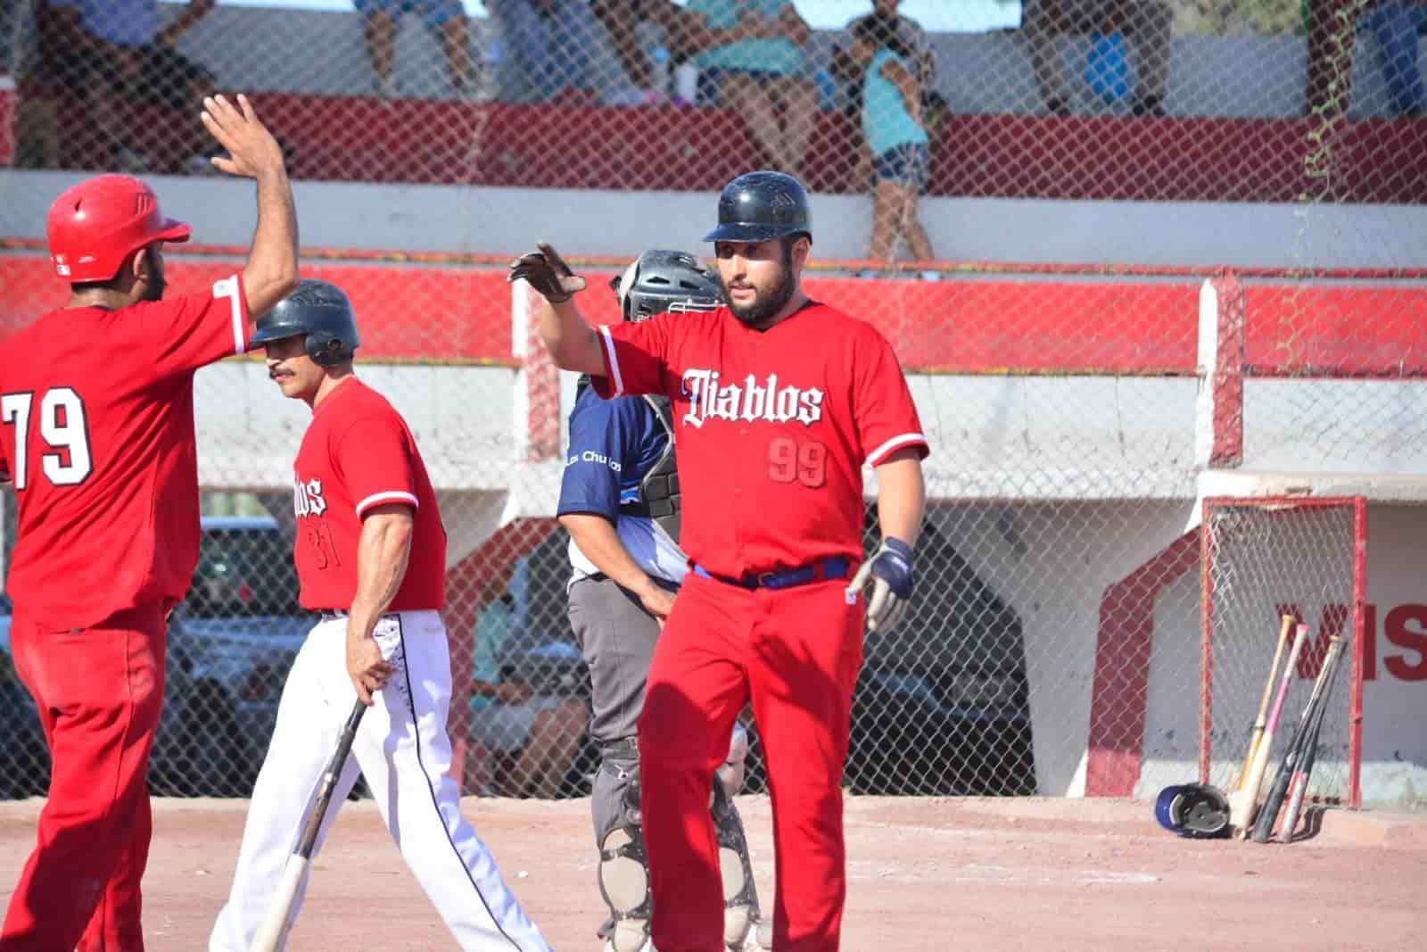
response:
<path id="1" fill-rule="evenodd" d="M 930 261 L 936 254 L 916 214 L 916 200 L 926 188 L 929 150 L 922 127 L 922 91 L 910 67 L 915 54 L 886 21 L 868 17 L 853 27 L 852 57 L 866 67 L 862 134 L 876 181 L 868 257 L 890 263 L 900 236 L 912 245 L 913 258 Z"/>

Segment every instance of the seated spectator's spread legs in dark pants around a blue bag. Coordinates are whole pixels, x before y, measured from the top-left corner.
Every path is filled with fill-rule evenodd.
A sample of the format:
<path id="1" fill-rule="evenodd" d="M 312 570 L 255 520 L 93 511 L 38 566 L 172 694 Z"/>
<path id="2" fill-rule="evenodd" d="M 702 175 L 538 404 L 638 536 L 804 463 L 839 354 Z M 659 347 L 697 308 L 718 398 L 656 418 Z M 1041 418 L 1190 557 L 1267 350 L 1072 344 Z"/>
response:
<path id="1" fill-rule="evenodd" d="M 1174 11 L 1166 0 L 1026 0 L 1022 20 L 1030 43 L 1030 64 L 1046 111 L 1069 116 L 1073 96 L 1056 40 L 1066 33 L 1122 34 L 1134 43 L 1137 69 L 1134 116 L 1163 116 L 1169 86 L 1170 27 Z"/>

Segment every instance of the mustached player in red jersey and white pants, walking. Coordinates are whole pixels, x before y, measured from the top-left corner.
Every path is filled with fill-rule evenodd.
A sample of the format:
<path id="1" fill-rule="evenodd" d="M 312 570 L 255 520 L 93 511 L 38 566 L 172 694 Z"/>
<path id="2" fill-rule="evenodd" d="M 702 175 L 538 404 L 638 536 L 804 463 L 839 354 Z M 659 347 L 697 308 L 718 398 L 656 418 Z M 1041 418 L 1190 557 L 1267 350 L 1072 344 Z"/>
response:
<path id="1" fill-rule="evenodd" d="M 421 888 L 467 952 L 548 952 L 495 861 L 461 816 L 447 774 L 451 658 L 440 609 L 445 528 L 405 421 L 352 374 L 351 303 L 303 281 L 258 318 L 268 375 L 313 407 L 293 467 L 293 561 L 321 619 L 293 662 L 258 772 L 211 952 L 245 952 L 263 923 L 354 697 L 370 705 L 317 849 L 358 772 Z M 301 906 L 305 882 L 288 916 Z"/>

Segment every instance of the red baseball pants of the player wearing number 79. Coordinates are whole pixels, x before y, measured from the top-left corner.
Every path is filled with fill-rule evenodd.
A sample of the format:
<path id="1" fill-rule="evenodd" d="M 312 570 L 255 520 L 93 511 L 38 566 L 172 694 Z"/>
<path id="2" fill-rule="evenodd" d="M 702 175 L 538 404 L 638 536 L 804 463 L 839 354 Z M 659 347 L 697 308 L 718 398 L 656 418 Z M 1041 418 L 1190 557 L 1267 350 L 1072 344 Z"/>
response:
<path id="1" fill-rule="evenodd" d="M 140 952 L 164 612 L 137 608 L 83 631 L 46 631 L 17 615 L 11 649 L 40 708 L 51 768 L 0 952 Z"/>

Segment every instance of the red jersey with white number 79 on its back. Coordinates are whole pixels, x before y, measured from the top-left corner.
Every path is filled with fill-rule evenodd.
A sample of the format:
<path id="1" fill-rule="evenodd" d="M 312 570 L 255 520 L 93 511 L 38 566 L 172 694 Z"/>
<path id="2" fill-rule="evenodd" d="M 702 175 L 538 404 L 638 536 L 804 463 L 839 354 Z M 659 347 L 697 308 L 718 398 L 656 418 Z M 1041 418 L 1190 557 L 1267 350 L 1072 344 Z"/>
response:
<path id="1" fill-rule="evenodd" d="M 247 348 L 238 275 L 207 294 L 51 311 L 0 345 L 9 591 L 40 627 L 183 599 L 198 562 L 193 374 Z"/>

